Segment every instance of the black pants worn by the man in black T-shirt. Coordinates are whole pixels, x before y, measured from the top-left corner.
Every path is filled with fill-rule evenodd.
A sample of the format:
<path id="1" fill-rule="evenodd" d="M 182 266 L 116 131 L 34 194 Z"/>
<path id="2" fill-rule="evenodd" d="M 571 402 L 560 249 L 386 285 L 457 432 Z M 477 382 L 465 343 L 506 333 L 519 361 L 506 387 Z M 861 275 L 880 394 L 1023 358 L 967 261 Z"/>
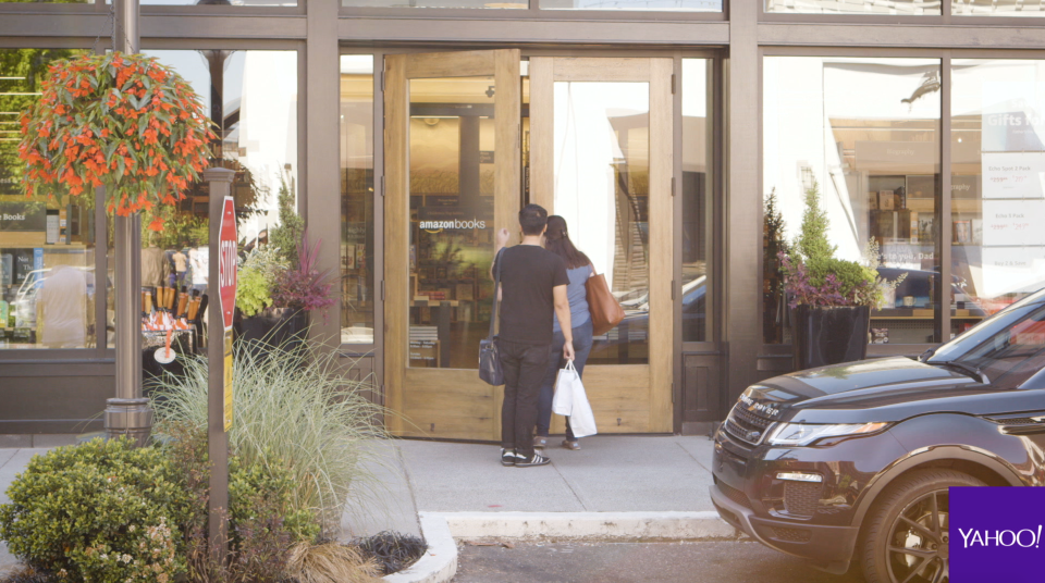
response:
<path id="1" fill-rule="evenodd" d="M 533 455 L 537 398 L 548 370 L 551 346 L 500 340 L 504 371 L 504 404 L 501 406 L 501 447 L 515 449 L 527 458 Z"/>

